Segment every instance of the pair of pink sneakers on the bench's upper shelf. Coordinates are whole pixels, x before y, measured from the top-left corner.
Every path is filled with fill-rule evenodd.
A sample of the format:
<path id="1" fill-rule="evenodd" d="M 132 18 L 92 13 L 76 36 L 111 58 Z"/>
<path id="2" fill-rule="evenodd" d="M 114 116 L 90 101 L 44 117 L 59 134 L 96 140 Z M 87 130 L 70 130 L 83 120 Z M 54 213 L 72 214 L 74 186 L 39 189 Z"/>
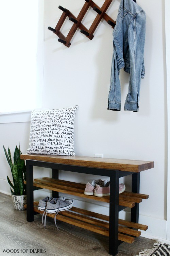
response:
<path id="1" fill-rule="evenodd" d="M 119 194 L 123 193 L 125 190 L 125 185 L 123 183 L 119 184 Z M 110 195 L 110 181 L 109 180 L 94 180 L 87 182 L 84 194 L 88 196 L 104 197 Z"/>

